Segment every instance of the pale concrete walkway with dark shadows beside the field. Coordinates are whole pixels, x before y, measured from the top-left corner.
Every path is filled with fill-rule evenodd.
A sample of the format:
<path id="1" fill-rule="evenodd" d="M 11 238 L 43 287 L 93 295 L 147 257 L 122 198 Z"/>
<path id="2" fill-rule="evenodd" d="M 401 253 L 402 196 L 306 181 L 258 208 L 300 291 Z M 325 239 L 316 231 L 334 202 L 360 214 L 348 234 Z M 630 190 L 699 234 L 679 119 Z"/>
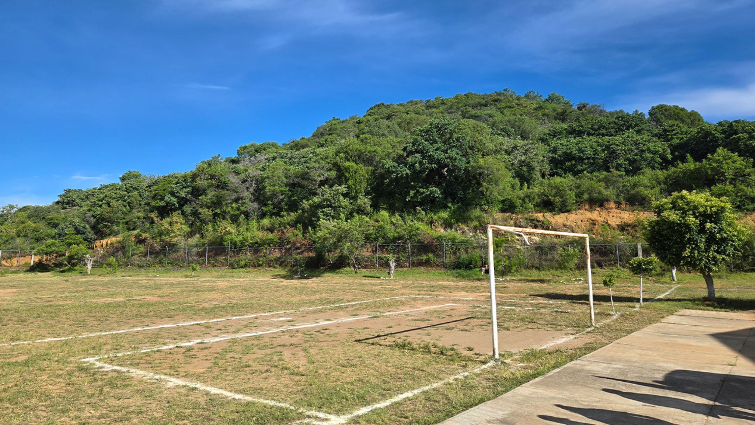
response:
<path id="1" fill-rule="evenodd" d="M 755 312 L 681 310 L 442 425 L 755 423 Z"/>

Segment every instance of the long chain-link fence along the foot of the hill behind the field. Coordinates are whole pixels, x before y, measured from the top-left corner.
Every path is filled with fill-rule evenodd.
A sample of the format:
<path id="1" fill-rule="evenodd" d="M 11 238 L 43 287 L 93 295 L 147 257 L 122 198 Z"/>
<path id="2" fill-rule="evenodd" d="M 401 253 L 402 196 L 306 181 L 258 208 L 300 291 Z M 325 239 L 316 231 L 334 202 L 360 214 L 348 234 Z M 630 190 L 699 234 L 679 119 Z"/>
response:
<path id="1" fill-rule="evenodd" d="M 584 268 L 584 245 L 500 245 L 495 248 L 496 263 L 504 269 L 581 269 Z M 626 266 L 640 254 L 652 255 L 646 244 L 592 244 L 593 266 L 599 268 Z M 344 267 L 350 266 L 346 256 L 319 252 L 313 246 L 273 246 L 231 248 L 202 246 L 183 248 L 110 248 L 90 253 L 94 266 L 102 266 L 110 258 L 118 266 L 134 267 Z M 487 263 L 484 242 L 406 243 L 365 245 L 356 255 L 359 268 L 387 268 L 389 257 L 397 268 L 474 269 Z M 40 257 L 34 251 L 0 250 L 0 266 L 23 269 L 34 263 L 51 263 L 54 257 Z M 735 269 L 735 261 L 731 269 Z M 737 264 L 738 265 L 738 264 Z M 737 269 L 742 269 L 737 267 Z"/>

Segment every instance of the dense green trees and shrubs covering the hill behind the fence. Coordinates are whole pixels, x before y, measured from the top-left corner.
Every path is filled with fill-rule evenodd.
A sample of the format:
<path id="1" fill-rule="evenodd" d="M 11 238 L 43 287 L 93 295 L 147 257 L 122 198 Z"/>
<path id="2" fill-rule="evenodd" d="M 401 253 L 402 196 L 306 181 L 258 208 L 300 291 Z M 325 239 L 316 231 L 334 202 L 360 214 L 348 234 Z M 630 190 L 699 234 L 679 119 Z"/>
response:
<path id="1" fill-rule="evenodd" d="M 648 117 L 510 90 L 378 103 L 185 173 L 128 171 L 119 183 L 66 189 L 52 205 L 8 205 L 0 248 L 69 251 L 125 236 L 153 246 L 317 242 L 326 252 L 346 243 L 335 233 L 355 217 L 368 221 L 369 242 L 432 242 L 458 238 L 439 227 L 493 212 L 649 208 L 680 189 L 753 211 L 753 159 L 755 122 L 710 124 L 680 106 Z"/>

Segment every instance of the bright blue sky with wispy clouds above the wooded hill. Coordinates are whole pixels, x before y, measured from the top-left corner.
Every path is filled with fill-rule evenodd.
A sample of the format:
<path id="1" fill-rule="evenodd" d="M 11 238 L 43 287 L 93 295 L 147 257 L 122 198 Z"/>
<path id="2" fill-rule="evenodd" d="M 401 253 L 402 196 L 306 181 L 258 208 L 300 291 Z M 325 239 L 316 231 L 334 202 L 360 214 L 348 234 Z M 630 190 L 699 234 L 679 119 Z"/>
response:
<path id="1" fill-rule="evenodd" d="M 4 0 L 0 205 L 467 91 L 755 119 L 753 22 L 738 0 Z"/>

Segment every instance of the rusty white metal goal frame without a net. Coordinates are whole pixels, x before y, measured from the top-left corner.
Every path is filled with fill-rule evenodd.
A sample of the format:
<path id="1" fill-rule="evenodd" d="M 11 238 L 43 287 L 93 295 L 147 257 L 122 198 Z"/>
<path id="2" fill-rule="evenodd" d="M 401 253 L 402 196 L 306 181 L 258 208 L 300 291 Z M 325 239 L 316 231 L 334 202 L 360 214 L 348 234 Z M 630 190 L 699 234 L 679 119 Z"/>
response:
<path id="1" fill-rule="evenodd" d="M 528 229 L 524 227 L 495 226 L 488 224 L 488 273 L 490 275 L 490 313 L 493 328 L 493 357 L 498 359 L 498 315 L 495 303 L 495 259 L 493 257 L 493 230 L 513 233 L 521 236 L 526 245 L 529 245 L 525 233 L 538 235 L 566 236 L 570 238 L 584 238 L 584 248 L 587 251 L 587 298 L 590 300 L 590 326 L 595 326 L 595 306 L 593 305 L 593 269 L 590 265 L 590 235 L 585 233 L 556 232 L 553 230 Z"/>

